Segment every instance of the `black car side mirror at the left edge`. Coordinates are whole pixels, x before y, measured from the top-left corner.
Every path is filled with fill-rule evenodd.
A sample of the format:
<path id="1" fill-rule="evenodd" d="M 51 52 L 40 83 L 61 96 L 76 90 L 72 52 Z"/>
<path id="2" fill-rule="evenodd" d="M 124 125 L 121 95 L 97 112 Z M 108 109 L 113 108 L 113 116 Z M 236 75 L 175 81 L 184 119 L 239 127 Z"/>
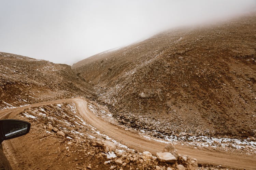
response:
<path id="1" fill-rule="evenodd" d="M 30 123 L 23 120 L 0 120 L 0 142 L 25 135 L 30 130 Z"/>

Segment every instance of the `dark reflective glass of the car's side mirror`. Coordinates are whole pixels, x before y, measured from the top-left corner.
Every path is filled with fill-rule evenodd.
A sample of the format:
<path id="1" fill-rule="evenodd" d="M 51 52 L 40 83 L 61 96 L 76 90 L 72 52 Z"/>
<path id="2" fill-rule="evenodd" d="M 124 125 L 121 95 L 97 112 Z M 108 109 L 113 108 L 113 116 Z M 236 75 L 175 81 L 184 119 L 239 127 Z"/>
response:
<path id="1" fill-rule="evenodd" d="M 5 138 L 11 138 L 15 136 L 21 136 L 26 134 L 28 130 L 28 124 L 22 121 L 3 121 L 2 122 L 2 133 Z"/>

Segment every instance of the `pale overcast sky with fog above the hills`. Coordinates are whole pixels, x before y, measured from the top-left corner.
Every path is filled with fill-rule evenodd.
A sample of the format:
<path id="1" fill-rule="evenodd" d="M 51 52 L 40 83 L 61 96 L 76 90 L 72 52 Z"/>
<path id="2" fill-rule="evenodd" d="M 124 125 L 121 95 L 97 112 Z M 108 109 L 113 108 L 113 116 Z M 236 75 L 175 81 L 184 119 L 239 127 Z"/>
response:
<path id="1" fill-rule="evenodd" d="M 0 0 L 0 51 L 72 65 L 167 28 L 255 8 L 256 0 Z"/>

